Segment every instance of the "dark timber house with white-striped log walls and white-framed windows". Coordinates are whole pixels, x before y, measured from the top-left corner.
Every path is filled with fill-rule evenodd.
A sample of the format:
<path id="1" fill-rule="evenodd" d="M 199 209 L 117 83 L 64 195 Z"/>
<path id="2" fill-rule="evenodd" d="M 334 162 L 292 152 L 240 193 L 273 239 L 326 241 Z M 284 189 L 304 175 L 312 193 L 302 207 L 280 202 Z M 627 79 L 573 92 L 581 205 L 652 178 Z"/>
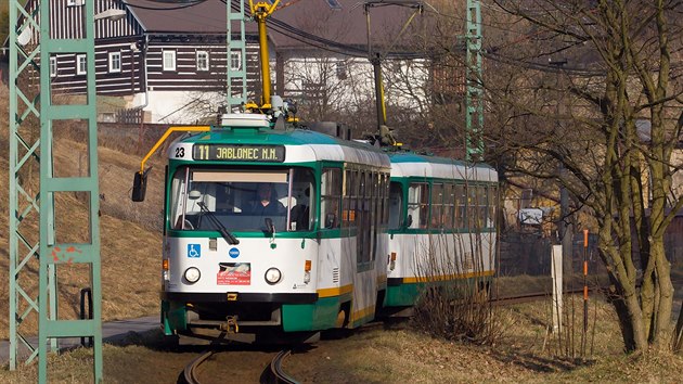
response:
<path id="1" fill-rule="evenodd" d="M 34 12 L 38 3 L 29 0 L 27 11 Z M 50 9 L 55 15 L 51 21 L 53 38 L 83 35 L 82 0 L 50 0 Z M 233 69 L 246 62 L 247 88 L 252 94 L 260 88 L 256 26 L 245 28 L 244 61 L 239 50 L 233 50 L 228 60 L 227 9 L 220 0 L 192 7 L 149 0 L 94 0 L 94 14 L 96 93 L 105 100 L 115 97 L 124 101 L 116 103 L 118 111 L 101 114 L 101 119 L 194 123 L 203 114 L 194 104 L 214 103 L 210 107 L 217 111 L 216 103 L 224 100 L 228 62 Z M 107 17 L 111 15 L 116 16 Z M 233 33 L 239 31 L 237 23 L 233 24 Z M 37 43 L 38 31 L 28 31 L 18 40 Z M 53 95 L 85 94 L 85 54 L 56 54 L 49 59 L 49 65 Z"/>

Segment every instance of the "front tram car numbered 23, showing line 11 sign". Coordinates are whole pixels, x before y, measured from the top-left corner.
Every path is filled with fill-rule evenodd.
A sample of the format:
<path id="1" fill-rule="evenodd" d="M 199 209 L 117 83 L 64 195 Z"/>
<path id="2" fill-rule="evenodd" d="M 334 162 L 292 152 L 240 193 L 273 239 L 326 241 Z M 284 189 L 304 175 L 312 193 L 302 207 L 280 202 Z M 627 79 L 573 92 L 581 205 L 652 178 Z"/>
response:
<path id="1" fill-rule="evenodd" d="M 166 335 L 258 342 L 374 318 L 387 279 L 387 154 L 232 114 L 168 155 Z"/>

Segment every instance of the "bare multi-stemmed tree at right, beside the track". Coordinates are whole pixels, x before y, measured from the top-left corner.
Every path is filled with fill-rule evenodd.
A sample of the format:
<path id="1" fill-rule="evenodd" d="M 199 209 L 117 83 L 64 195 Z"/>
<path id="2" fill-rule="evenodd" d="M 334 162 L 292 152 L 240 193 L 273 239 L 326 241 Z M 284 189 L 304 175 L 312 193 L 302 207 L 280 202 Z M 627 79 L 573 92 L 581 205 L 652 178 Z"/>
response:
<path id="1" fill-rule="evenodd" d="M 682 68 L 672 63 L 683 5 L 493 2 L 514 23 L 505 25 L 511 43 L 489 51 L 501 69 L 485 79 L 499 124 L 490 139 L 510 169 L 555 180 L 595 217 L 626 349 L 669 346 L 663 235 L 683 207 L 671 189 L 681 168 L 672 153 L 683 126 Z"/>

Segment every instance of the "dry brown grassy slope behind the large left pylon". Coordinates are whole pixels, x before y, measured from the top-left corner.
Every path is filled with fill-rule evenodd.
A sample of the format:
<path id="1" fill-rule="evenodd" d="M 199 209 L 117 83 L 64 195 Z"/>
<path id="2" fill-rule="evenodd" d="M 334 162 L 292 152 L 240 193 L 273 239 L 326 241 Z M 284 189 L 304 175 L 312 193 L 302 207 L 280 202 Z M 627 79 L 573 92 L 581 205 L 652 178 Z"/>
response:
<path id="1" fill-rule="evenodd" d="M 8 89 L 0 89 L 0 338 L 9 335 L 9 129 Z M 132 133 L 124 132 L 124 133 Z M 151 142 L 138 142 L 134 135 L 121 135 L 112 127 L 99 132 L 99 179 L 101 204 L 101 259 L 103 320 L 133 318 L 158 312 L 159 267 L 162 249 L 162 183 L 164 179 L 160 156 L 154 156 L 154 170 L 150 174 L 147 200 L 143 203 L 130 201 L 133 172 L 140 167 L 143 152 Z M 55 172 L 60 176 L 76 176 L 87 172 L 85 158 L 87 146 L 77 130 L 55 130 Z M 37 165 L 37 163 L 35 163 Z M 35 168 L 33 171 L 37 172 Z M 35 192 L 34 192 L 35 193 Z M 22 209 L 27 203 L 24 201 Z M 88 219 L 87 196 L 61 193 L 55 197 L 56 236 L 60 242 L 87 239 L 85 222 Z M 37 236 L 35 212 L 24 220 L 23 234 Z M 20 247 L 20 253 L 27 248 Z M 36 292 L 37 259 L 27 264 L 20 276 L 21 285 L 31 295 Z M 80 289 L 89 285 L 86 266 L 63 266 L 59 276 L 59 318 L 74 319 L 78 316 Z M 20 310 L 23 310 L 24 306 Z M 37 331 L 37 316 L 31 315 L 22 324 L 24 333 Z"/>

